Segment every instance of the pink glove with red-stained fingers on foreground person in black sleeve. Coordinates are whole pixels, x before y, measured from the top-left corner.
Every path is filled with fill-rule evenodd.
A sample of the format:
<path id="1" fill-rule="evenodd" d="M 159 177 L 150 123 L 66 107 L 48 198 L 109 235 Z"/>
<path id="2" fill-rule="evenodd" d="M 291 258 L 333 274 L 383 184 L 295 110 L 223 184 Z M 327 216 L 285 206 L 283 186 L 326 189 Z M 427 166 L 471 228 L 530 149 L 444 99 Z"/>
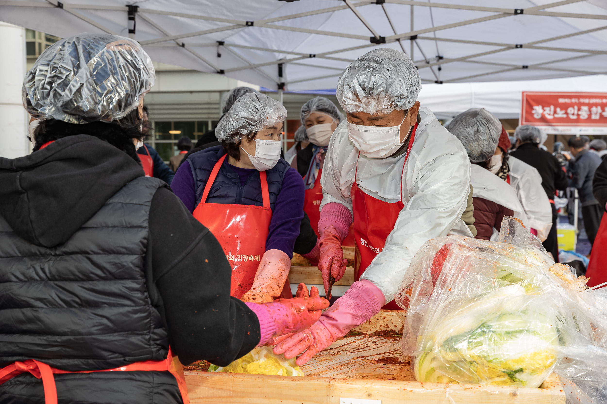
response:
<path id="1" fill-rule="evenodd" d="M 247 302 L 246 305 L 259 319 L 259 346 L 265 344 L 271 336 L 282 336 L 308 328 L 319 319 L 322 309 L 329 306 L 329 301 L 319 297 L 315 286 L 308 295 L 308 288 L 300 283 L 293 299 L 277 299 L 263 304 Z"/>

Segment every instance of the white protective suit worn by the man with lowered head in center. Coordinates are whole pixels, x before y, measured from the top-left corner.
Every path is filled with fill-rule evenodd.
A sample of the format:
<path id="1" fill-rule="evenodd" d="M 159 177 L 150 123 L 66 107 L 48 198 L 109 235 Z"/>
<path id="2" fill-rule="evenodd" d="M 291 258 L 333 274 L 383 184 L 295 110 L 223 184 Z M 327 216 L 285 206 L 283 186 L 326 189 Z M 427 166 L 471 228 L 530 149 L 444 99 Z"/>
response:
<path id="1" fill-rule="evenodd" d="M 427 240 L 447 234 L 473 237 L 461 220 L 470 191 L 468 154 L 428 108 L 419 109 L 419 118 L 404 170 L 405 153 L 384 159 L 359 157 L 342 122 L 331 137 L 320 179 L 321 210 L 337 202 L 352 211 L 350 189 L 355 176 L 363 192 L 385 202 L 398 202 L 402 193 L 405 207 L 394 230 L 361 277 L 384 293 L 386 303 L 394 299 L 413 256 Z"/>

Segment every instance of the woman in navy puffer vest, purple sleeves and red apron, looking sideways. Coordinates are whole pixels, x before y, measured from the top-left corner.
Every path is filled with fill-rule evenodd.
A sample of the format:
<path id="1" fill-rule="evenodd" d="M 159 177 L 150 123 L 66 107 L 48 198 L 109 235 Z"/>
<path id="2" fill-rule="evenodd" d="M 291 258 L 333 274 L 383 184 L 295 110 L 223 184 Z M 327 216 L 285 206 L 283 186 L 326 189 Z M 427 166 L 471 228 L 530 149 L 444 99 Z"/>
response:
<path id="1" fill-rule="evenodd" d="M 291 297 L 287 275 L 304 217 L 304 182 L 280 158 L 285 118 L 274 99 L 244 94 L 217 125 L 222 145 L 188 156 L 172 182 L 221 243 L 232 265 L 232 296 L 245 302 Z"/>

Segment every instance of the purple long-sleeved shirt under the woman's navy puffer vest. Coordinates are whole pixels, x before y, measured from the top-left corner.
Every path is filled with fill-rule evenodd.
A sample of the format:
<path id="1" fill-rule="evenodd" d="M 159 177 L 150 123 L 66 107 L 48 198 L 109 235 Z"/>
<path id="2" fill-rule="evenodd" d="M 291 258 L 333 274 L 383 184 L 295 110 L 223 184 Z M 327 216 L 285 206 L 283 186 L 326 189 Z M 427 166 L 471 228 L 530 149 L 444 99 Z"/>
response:
<path id="1" fill-rule="evenodd" d="M 226 161 L 224 164 L 228 164 L 228 162 Z M 229 166 L 239 175 L 241 186 L 257 171 L 254 168 L 240 168 L 231 164 Z M 171 188 L 186 208 L 193 213 L 196 208 L 196 186 L 188 161 L 178 168 L 171 182 Z M 299 227 L 304 217 L 304 196 L 304 180 L 297 170 L 289 168 L 282 179 L 282 189 L 274 204 L 266 239 L 266 251 L 280 250 L 290 258 L 293 257 L 293 247 L 299 236 Z"/>

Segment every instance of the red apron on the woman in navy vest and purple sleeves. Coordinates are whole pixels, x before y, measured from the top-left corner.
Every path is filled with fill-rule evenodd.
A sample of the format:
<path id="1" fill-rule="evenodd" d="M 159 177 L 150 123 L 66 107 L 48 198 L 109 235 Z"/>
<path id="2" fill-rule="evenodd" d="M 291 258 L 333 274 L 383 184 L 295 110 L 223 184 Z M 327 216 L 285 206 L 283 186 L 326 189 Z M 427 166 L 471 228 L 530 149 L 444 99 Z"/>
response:
<path id="1" fill-rule="evenodd" d="M 206 197 L 226 156 L 227 154 L 224 154 L 215 163 L 211 176 L 206 181 L 200 204 L 195 208 L 193 215 L 198 222 L 211 230 L 222 245 L 223 252 L 232 267 L 230 294 L 240 299 L 246 291 L 251 290 L 257 267 L 265 253 L 272 210 L 265 171 L 259 171 L 263 207 L 206 203 Z"/>

